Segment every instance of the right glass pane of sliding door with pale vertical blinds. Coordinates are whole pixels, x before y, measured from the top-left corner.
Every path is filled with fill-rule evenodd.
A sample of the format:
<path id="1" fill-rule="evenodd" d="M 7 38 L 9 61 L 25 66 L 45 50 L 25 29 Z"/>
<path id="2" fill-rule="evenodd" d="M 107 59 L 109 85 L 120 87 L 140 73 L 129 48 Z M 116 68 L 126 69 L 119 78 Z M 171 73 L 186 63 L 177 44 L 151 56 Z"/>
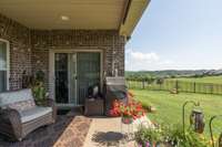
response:
<path id="1" fill-rule="evenodd" d="M 78 53 L 78 104 L 83 104 L 90 86 L 100 86 L 100 53 Z"/>

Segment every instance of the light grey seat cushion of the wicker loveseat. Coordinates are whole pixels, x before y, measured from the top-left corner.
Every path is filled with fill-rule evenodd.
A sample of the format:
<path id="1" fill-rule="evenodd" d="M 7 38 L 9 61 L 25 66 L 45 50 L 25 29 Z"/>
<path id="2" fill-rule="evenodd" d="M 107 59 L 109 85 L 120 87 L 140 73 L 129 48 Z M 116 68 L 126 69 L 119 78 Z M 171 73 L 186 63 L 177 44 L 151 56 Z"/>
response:
<path id="1" fill-rule="evenodd" d="M 32 108 L 19 112 L 19 114 L 21 115 L 21 123 L 33 120 L 49 113 L 52 113 L 51 107 L 40 107 L 40 106 L 34 106 Z"/>

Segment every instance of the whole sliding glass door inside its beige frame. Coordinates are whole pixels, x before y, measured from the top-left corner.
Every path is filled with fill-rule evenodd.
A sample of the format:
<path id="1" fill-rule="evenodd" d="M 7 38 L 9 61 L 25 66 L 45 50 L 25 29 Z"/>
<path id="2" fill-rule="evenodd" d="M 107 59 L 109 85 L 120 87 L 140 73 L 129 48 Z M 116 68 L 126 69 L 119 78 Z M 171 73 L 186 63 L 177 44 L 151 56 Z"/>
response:
<path id="1" fill-rule="evenodd" d="M 56 102 L 83 105 L 90 86 L 100 86 L 100 53 L 56 53 Z"/>

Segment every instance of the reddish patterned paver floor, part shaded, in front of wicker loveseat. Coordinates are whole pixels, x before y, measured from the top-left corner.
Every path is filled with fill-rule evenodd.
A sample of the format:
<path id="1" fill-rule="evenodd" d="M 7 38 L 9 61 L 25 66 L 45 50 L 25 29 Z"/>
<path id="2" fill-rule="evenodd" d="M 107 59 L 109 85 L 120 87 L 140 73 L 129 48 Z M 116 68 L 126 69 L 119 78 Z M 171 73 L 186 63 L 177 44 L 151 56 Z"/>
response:
<path id="1" fill-rule="evenodd" d="M 91 119 L 84 116 L 59 115 L 57 123 L 40 127 L 22 141 L 0 136 L 0 147 L 82 147 Z"/>

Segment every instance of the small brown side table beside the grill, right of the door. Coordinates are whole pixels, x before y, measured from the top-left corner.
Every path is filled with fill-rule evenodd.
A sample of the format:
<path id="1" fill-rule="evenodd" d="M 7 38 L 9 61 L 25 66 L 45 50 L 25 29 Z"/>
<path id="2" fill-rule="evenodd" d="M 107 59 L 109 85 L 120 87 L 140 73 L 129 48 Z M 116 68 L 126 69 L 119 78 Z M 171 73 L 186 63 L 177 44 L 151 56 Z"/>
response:
<path id="1" fill-rule="evenodd" d="M 104 115 L 104 101 L 101 98 L 87 98 L 84 102 L 84 115 L 87 116 Z"/>

